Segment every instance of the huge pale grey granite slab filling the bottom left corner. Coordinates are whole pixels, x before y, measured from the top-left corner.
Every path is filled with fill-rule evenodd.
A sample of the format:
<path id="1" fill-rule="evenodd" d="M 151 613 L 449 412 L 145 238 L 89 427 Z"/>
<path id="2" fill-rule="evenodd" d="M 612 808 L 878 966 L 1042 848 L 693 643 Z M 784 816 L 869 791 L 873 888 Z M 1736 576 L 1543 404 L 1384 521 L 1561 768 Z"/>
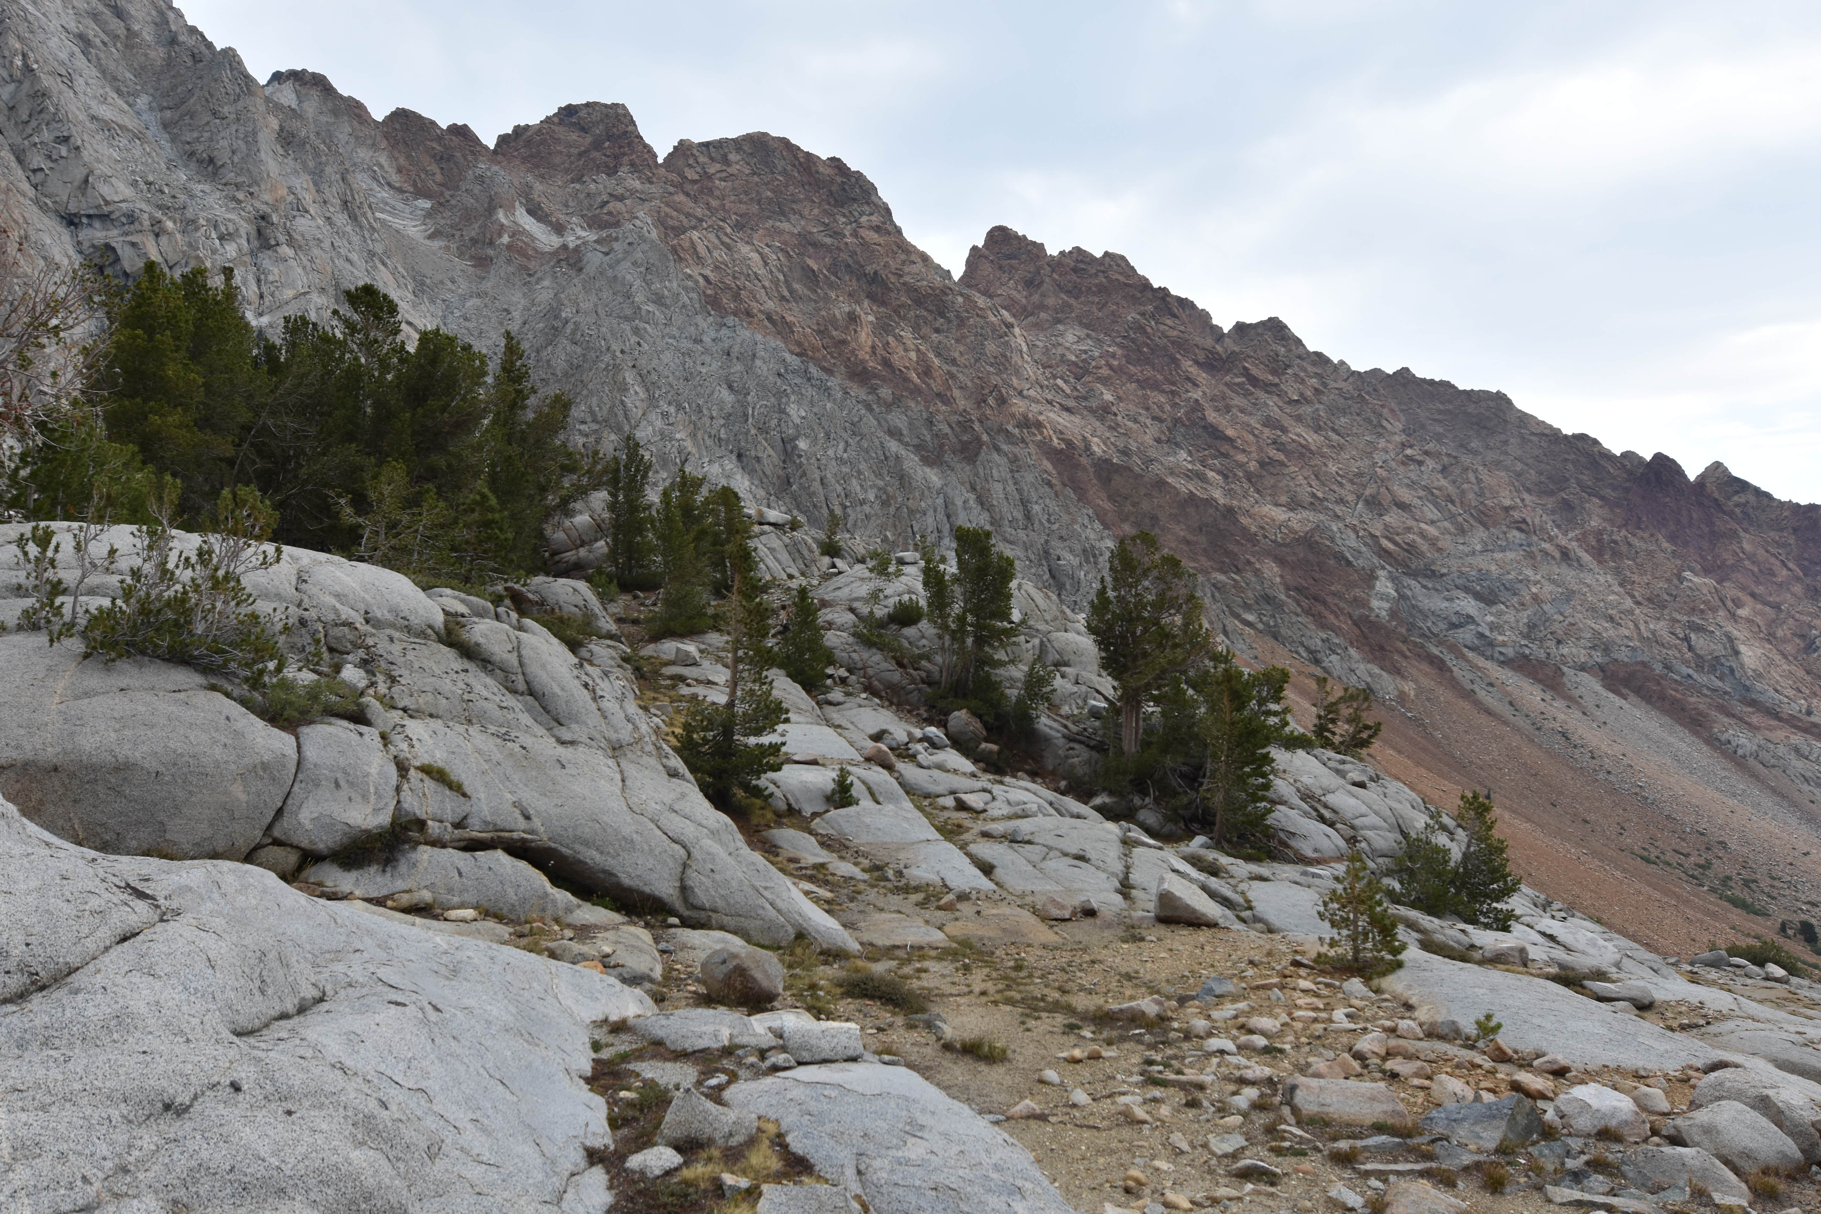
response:
<path id="1" fill-rule="evenodd" d="M 11 1205 L 605 1209 L 590 1036 L 645 996 L 5 803 L 0 872 Z"/>

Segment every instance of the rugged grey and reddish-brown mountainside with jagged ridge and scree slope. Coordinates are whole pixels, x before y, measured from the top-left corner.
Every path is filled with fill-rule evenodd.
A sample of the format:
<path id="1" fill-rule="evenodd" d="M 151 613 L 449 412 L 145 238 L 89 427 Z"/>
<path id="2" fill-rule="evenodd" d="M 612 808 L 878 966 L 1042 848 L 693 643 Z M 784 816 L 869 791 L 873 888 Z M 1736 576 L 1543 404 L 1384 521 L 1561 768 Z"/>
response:
<path id="1" fill-rule="evenodd" d="M 1076 604 L 1156 530 L 1295 693 L 1373 686 L 1388 772 L 1491 786 L 1535 886 L 1668 952 L 1821 910 L 1816 506 L 1222 329 L 1116 253 L 994 228 L 956 282 L 772 135 L 659 158 L 590 102 L 488 147 L 260 86 L 158 0 L 5 5 L 0 106 L 0 217 L 47 257 L 235 266 L 262 322 L 375 282 L 417 328 L 512 328 L 585 444 L 894 546 L 987 524 Z"/>

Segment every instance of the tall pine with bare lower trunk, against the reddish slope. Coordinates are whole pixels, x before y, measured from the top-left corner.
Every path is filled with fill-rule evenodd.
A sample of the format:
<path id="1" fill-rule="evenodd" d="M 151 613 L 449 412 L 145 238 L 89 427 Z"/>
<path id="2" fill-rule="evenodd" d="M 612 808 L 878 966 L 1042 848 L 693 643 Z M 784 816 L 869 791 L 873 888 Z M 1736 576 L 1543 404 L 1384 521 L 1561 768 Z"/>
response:
<path id="1" fill-rule="evenodd" d="M 1118 686 L 1120 750 L 1138 752 L 1145 699 L 1191 670 L 1211 648 L 1195 573 L 1156 535 L 1122 539 L 1087 608 L 1100 668 Z"/>

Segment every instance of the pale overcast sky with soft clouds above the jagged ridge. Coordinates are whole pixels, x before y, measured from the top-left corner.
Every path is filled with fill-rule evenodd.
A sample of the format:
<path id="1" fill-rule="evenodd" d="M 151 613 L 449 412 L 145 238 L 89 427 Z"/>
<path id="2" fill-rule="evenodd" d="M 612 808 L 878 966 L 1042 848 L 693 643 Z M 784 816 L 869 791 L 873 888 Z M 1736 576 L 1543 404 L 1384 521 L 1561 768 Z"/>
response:
<path id="1" fill-rule="evenodd" d="M 1499 388 L 1821 501 L 1821 5 L 191 0 L 492 142 L 565 102 L 867 173 L 954 273 L 992 224 L 1227 326 Z"/>

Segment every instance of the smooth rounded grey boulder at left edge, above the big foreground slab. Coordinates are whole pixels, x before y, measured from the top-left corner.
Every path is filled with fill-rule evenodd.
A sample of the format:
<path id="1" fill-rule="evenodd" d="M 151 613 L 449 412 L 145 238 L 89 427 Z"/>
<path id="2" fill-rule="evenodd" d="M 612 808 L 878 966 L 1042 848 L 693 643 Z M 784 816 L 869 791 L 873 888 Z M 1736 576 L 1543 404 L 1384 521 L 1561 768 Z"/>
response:
<path id="1" fill-rule="evenodd" d="M 0 635 L 0 795 L 98 852 L 244 859 L 284 804 L 297 743 L 208 684 Z"/>

